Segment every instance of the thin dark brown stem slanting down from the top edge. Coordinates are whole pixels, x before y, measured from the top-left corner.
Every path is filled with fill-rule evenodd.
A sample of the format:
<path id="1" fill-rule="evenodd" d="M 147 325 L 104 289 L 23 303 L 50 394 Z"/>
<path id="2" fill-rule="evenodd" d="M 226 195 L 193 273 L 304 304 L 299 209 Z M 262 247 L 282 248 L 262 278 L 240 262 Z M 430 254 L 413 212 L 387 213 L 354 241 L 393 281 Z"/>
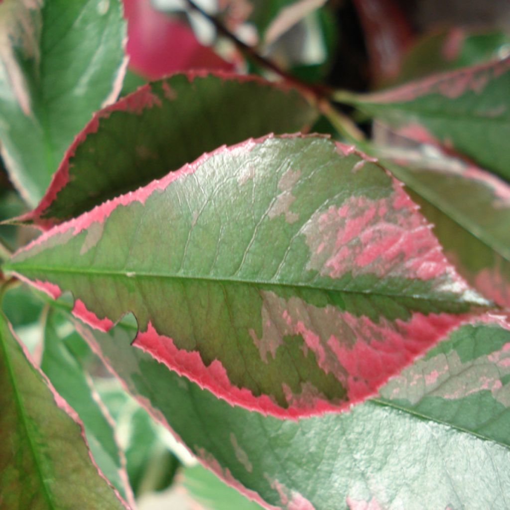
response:
<path id="1" fill-rule="evenodd" d="M 220 33 L 223 37 L 226 37 L 228 40 L 232 41 L 239 48 L 241 53 L 252 62 L 259 64 L 261 67 L 273 71 L 274 73 L 281 76 L 284 80 L 311 92 L 316 99 L 329 97 L 331 93 L 333 93 L 333 90 L 330 89 L 329 87 L 323 85 L 310 85 L 309 83 L 305 83 L 299 80 L 298 78 L 293 77 L 291 74 L 284 71 L 281 67 L 275 64 L 272 60 L 269 60 L 260 55 L 255 48 L 248 46 L 246 43 L 238 39 L 232 32 L 225 28 L 225 26 L 220 20 L 218 20 L 216 17 L 212 16 L 211 14 L 203 10 L 200 6 L 196 5 L 193 2 L 193 0 L 186 0 L 186 3 L 190 7 L 190 9 L 200 13 L 203 17 L 208 19 L 214 25 L 218 33 Z"/>

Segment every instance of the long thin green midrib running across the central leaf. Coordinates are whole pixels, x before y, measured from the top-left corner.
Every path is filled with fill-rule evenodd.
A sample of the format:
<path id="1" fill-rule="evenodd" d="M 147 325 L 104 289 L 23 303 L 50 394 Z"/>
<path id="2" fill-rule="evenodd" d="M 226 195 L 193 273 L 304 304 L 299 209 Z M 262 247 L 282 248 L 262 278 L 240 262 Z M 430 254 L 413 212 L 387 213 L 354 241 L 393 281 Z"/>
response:
<path id="1" fill-rule="evenodd" d="M 20 271 L 16 269 L 16 267 L 12 267 L 10 264 L 6 264 L 4 266 L 5 270 L 11 270 L 14 273 L 22 274 L 22 270 L 28 271 L 38 271 L 44 273 L 67 273 L 67 274 L 84 274 L 91 276 L 122 276 L 127 279 L 134 278 L 160 278 L 160 279 L 175 279 L 175 280 L 184 280 L 184 281 L 202 281 L 202 282 L 213 282 L 218 284 L 239 284 L 239 285 L 252 285 L 252 286 L 261 286 L 261 287 L 283 287 L 283 288 L 298 288 L 305 290 L 313 290 L 313 291 L 321 291 L 321 292 L 339 292 L 345 294 L 362 294 L 368 296 L 379 296 L 379 297 L 389 297 L 389 298 L 400 298 L 400 299 L 416 299 L 423 300 L 427 302 L 449 302 L 449 303 L 460 303 L 460 304 L 469 304 L 472 306 L 485 307 L 490 308 L 490 303 L 486 301 L 485 303 L 468 300 L 463 298 L 462 295 L 457 299 L 452 299 L 451 297 L 440 298 L 437 296 L 427 297 L 422 294 L 399 294 L 399 293 L 384 293 L 384 292 L 373 292 L 370 290 L 350 290 L 350 289 L 334 289 L 328 287 L 318 287 L 314 285 L 308 284 L 299 284 L 299 283 L 285 283 L 285 282 L 268 282 L 268 281 L 260 281 L 257 279 L 240 279 L 240 278 L 216 278 L 213 276 L 188 276 L 188 275 L 175 275 L 175 274 L 164 274 L 164 273 L 149 273 L 149 272 L 138 272 L 138 271 L 120 271 L 120 270 L 86 270 L 79 268 L 69 268 L 69 267 L 47 267 L 47 266 L 29 266 L 29 265 L 20 265 Z M 128 275 L 128 273 L 133 273 L 132 275 Z M 65 292 L 70 289 L 63 289 Z M 441 291 L 439 291 L 441 292 Z"/>

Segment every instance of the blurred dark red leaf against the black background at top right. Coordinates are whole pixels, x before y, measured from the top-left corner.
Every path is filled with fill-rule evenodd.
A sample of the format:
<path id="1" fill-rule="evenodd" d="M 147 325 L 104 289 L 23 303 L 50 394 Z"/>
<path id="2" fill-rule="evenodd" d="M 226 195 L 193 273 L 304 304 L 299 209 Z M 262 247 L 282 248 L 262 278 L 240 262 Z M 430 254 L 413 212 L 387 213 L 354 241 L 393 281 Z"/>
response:
<path id="1" fill-rule="evenodd" d="M 400 59 L 412 40 L 412 30 L 394 0 L 354 0 L 365 32 L 372 80 L 395 78 Z"/>

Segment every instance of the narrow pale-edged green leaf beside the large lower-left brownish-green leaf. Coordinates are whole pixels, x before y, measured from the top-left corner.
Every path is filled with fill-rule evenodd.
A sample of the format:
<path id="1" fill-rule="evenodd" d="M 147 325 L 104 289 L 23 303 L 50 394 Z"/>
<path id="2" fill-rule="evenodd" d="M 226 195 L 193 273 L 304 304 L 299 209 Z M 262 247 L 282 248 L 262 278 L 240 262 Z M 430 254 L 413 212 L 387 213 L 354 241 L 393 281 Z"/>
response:
<path id="1" fill-rule="evenodd" d="M 69 329 L 70 327 L 70 329 Z M 92 354 L 72 325 L 54 311 L 44 324 L 41 370 L 80 416 L 94 461 L 124 500 L 134 499 L 112 428 L 113 420 L 86 372 Z M 102 365 L 102 364 L 101 364 Z"/>

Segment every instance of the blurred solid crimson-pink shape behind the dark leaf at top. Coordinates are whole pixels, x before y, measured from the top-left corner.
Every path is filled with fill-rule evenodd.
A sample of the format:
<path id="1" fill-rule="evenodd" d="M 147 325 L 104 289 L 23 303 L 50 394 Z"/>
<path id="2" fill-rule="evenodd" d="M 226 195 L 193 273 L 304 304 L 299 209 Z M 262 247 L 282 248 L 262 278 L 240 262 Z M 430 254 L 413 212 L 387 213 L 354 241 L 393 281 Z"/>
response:
<path id="1" fill-rule="evenodd" d="M 200 44 L 186 24 L 156 10 L 149 0 L 123 0 L 123 4 L 129 66 L 147 79 L 188 69 L 234 69 Z"/>

